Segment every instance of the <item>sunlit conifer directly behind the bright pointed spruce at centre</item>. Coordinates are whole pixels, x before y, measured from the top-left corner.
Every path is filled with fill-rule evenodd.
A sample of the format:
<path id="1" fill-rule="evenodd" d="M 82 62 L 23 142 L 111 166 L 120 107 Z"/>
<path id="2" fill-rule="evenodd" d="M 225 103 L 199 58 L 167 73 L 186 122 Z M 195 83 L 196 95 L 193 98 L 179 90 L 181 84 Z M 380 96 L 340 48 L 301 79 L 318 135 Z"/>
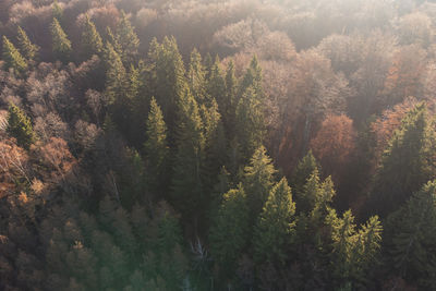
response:
<path id="1" fill-rule="evenodd" d="M 246 89 L 238 104 L 235 129 L 243 161 L 246 161 L 265 137 L 265 117 L 253 87 Z"/>

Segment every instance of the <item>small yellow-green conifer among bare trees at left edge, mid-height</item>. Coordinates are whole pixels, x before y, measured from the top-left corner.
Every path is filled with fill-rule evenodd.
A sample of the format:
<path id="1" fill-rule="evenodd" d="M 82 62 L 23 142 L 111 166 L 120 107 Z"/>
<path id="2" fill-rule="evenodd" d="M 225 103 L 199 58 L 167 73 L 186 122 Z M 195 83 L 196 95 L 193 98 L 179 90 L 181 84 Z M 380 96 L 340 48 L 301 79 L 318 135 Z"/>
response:
<path id="1" fill-rule="evenodd" d="M 8 133 L 16 138 L 16 143 L 28 149 L 35 142 L 35 134 L 29 118 L 14 104 L 9 106 Z"/>

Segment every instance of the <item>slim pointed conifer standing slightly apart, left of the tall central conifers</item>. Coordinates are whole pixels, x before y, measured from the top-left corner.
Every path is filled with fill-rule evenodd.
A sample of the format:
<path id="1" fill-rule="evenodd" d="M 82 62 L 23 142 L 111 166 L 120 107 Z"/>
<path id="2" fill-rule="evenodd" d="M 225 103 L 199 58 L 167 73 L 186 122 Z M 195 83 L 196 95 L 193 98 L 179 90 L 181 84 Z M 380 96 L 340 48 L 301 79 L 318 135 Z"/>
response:
<path id="1" fill-rule="evenodd" d="M 167 144 L 167 125 L 164 121 L 164 114 L 155 98 L 150 101 L 150 111 L 146 122 L 147 141 L 144 144 L 144 150 L 147 162 L 147 184 L 155 195 L 160 195 L 168 173 L 169 148 Z"/>

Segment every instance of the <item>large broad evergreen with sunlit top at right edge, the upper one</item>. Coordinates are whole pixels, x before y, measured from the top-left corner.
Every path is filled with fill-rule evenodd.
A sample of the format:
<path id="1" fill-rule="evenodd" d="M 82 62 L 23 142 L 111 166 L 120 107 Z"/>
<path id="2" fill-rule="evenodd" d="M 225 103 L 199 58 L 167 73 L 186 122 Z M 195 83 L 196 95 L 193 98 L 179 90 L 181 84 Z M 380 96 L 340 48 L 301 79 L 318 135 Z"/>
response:
<path id="1" fill-rule="evenodd" d="M 421 104 L 404 117 L 383 154 L 370 207 L 386 215 L 434 177 L 435 146 L 426 106 Z"/>

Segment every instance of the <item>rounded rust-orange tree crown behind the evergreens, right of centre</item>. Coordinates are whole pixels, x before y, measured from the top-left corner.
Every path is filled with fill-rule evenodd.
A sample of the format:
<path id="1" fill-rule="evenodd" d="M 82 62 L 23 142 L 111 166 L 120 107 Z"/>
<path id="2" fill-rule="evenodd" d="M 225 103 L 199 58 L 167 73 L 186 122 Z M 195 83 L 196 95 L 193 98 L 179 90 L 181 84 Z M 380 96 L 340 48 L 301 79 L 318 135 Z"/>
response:
<path id="1" fill-rule="evenodd" d="M 328 114 L 311 141 L 311 148 L 323 169 L 334 178 L 343 170 L 355 148 L 353 121 L 344 114 Z"/>

